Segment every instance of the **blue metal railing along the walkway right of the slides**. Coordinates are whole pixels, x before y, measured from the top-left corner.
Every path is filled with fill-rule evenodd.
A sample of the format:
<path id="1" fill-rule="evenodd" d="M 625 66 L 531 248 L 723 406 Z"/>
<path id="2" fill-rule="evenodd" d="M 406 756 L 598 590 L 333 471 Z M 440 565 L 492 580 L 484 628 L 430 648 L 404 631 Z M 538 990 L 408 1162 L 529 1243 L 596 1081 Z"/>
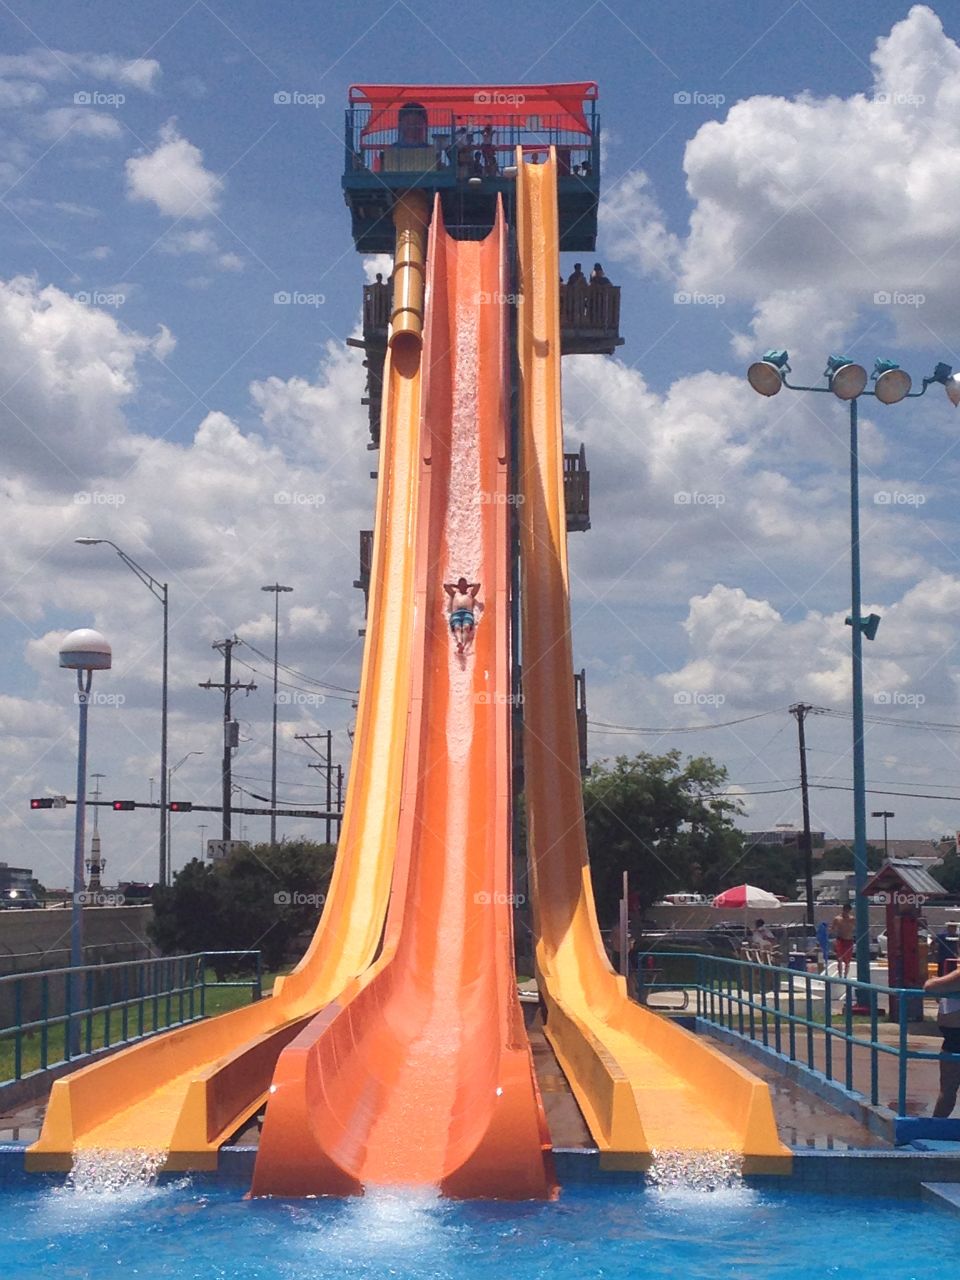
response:
<path id="1" fill-rule="evenodd" d="M 869 1098 L 874 1106 L 881 1094 L 881 1055 L 896 1057 L 899 1116 L 908 1114 L 908 1066 L 911 1061 L 960 1061 L 957 1053 L 934 1053 L 910 1046 L 910 1015 L 918 1005 L 922 1010 L 924 998 L 931 998 L 915 988 L 864 986 L 827 973 L 694 951 L 640 955 L 637 991 L 641 1002 L 646 1002 L 650 992 L 678 989 L 695 992 L 696 1016 L 703 1021 L 758 1041 L 790 1062 Z M 838 1011 L 833 1007 L 837 995 L 842 997 Z M 879 1038 L 881 1000 L 895 1010 L 896 1043 Z M 856 1012 L 858 1009 L 863 1012 Z M 820 1016 L 812 1016 L 814 1011 Z M 864 1052 L 855 1053 L 858 1048 Z M 865 1073 L 868 1079 L 864 1079 Z"/>

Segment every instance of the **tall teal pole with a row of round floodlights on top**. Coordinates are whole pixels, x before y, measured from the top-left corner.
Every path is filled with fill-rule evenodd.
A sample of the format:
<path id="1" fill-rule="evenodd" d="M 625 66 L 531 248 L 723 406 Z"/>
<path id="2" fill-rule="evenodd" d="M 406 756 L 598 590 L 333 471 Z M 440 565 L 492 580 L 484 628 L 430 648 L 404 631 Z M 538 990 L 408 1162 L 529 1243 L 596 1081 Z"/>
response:
<path id="1" fill-rule="evenodd" d="M 846 356 L 831 356 L 823 376 L 826 387 L 801 387 L 787 381 L 790 365 L 786 351 L 767 351 L 763 360 L 750 365 L 746 376 L 760 396 L 776 396 L 782 387 L 791 392 L 827 392 L 850 402 L 850 666 L 854 718 L 854 881 L 856 918 L 856 980 L 864 987 L 870 983 L 870 918 L 864 896 L 867 884 L 867 773 L 864 763 L 863 728 L 863 637 L 873 640 L 879 626 L 879 614 L 861 617 L 860 612 L 860 470 L 858 456 L 858 410 L 860 396 L 873 396 L 882 404 L 896 404 L 908 397 L 923 396 L 933 383 L 940 383 L 951 404 L 960 404 L 960 380 L 950 365 L 938 364 L 929 378 L 923 379 L 919 392 L 911 392 L 910 375 L 892 360 L 877 360 L 873 366 L 873 390 L 867 390 L 867 370 Z"/>

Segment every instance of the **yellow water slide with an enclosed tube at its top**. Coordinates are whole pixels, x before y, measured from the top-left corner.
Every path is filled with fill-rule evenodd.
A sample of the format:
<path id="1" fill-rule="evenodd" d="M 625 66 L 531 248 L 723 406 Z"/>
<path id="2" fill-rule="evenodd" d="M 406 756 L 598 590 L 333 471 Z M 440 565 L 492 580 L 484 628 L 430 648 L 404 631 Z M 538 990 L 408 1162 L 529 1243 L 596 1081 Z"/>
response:
<path id="1" fill-rule="evenodd" d="M 419 326 L 426 204 L 402 201 L 394 329 Z M 413 319 L 411 319 L 413 317 Z M 380 471 L 353 767 L 337 863 L 316 934 L 273 996 L 142 1041 L 58 1080 L 32 1170 L 68 1170 L 74 1149 L 168 1152 L 166 1167 L 215 1169 L 218 1149 L 262 1105 L 280 1050 L 372 961 L 397 846 L 410 712 L 417 515 L 420 343 L 384 365 Z"/>

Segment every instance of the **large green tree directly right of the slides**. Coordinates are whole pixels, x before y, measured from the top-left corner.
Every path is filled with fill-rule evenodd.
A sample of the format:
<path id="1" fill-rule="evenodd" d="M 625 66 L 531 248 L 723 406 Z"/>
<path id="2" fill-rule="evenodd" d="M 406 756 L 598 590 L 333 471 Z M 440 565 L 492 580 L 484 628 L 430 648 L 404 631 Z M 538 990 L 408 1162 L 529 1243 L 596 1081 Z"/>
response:
<path id="1" fill-rule="evenodd" d="M 742 810 L 721 794 L 726 782 L 722 764 L 708 756 L 684 762 L 680 751 L 641 751 L 593 767 L 584 813 L 600 920 L 616 918 L 625 870 L 641 909 L 664 893 L 719 890 L 744 849 L 733 826 Z"/>

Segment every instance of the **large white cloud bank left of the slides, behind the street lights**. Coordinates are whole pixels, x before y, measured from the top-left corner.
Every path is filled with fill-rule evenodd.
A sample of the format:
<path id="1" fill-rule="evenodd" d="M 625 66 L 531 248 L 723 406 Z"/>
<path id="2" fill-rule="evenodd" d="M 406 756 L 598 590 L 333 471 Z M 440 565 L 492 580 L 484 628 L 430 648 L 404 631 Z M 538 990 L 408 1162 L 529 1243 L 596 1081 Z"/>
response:
<path id="1" fill-rule="evenodd" d="M 323 795 L 296 732 L 330 727 L 335 759 L 346 763 L 349 751 L 353 709 L 343 690 L 358 678 L 362 622 L 362 596 L 351 584 L 357 530 L 369 527 L 374 499 L 362 356 L 330 344 L 312 378 L 251 387 L 252 429 L 214 408 L 187 439 L 172 440 L 147 435 L 136 421 L 140 365 L 168 356 L 172 343 L 163 328 L 155 338 L 137 334 L 106 310 L 36 280 L 0 288 L 0 381 L 23 420 L 9 413 L 0 421 L 0 579 L 10 643 L 10 684 L 0 698 L 8 728 L 0 732 L 0 794 L 8 796 L 0 831 L 49 884 L 69 879 L 69 814 L 38 823 L 26 797 L 73 790 L 76 707 L 56 663 L 58 641 L 72 626 L 97 626 L 114 646 L 114 668 L 97 686 L 118 696 L 91 713 L 96 768 L 114 794 L 147 799 L 146 780 L 159 767 L 156 600 L 110 548 L 77 547 L 77 536 L 111 538 L 170 584 L 170 759 L 205 753 L 178 773 L 182 797 L 218 803 L 221 707 L 197 684 L 219 677 L 210 645 L 224 635 L 271 649 L 262 582 L 294 586 L 280 608 L 282 660 L 340 686 L 324 691 L 289 677 L 302 687 L 289 691 L 280 714 L 283 794 L 302 804 Z M 236 771 L 241 785 L 266 794 L 271 667 L 241 646 L 234 671 L 259 686 L 234 700 L 243 742 Z M 128 814 L 122 829 L 113 822 L 101 817 L 115 876 L 154 878 L 155 815 Z M 192 831 L 174 829 L 177 867 L 196 847 Z M 306 831 L 312 833 L 308 824 Z"/>

